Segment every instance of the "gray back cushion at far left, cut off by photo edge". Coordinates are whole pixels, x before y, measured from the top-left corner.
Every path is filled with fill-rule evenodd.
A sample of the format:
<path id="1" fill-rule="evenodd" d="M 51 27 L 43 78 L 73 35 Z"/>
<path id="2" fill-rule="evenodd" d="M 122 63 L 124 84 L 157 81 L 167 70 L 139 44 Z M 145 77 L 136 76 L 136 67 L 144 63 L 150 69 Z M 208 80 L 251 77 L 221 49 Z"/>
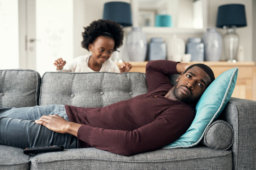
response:
<path id="1" fill-rule="evenodd" d="M 40 81 L 34 70 L 0 70 L 0 108 L 38 105 Z"/>

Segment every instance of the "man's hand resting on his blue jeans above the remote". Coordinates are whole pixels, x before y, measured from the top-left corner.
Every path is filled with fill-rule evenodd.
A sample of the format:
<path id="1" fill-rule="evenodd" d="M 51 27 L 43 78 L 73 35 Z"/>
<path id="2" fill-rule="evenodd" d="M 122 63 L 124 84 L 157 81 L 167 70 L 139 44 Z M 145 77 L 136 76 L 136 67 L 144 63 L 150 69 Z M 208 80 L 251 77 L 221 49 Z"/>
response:
<path id="1" fill-rule="evenodd" d="M 35 120 L 35 123 L 43 125 L 48 129 L 58 133 L 70 133 L 77 137 L 77 131 L 81 124 L 66 121 L 57 114 L 43 115 L 40 119 Z"/>

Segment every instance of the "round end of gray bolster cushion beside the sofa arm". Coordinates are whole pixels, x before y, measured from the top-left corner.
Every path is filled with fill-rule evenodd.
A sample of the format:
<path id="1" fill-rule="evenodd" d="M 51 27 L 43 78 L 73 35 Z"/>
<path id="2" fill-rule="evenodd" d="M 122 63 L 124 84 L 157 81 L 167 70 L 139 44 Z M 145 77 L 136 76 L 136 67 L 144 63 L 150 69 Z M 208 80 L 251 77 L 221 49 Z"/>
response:
<path id="1" fill-rule="evenodd" d="M 223 120 L 214 121 L 205 131 L 202 144 L 211 149 L 227 150 L 233 144 L 233 129 Z"/>

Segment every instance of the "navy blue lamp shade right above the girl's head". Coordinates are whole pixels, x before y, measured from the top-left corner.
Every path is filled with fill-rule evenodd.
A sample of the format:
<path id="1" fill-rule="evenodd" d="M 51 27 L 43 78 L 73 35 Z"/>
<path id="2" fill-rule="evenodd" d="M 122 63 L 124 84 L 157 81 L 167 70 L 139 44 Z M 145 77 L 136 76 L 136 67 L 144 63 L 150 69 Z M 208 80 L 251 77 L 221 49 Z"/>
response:
<path id="1" fill-rule="evenodd" d="M 104 4 L 103 19 L 116 21 L 123 27 L 132 26 L 130 4 L 126 2 L 107 2 Z"/>

